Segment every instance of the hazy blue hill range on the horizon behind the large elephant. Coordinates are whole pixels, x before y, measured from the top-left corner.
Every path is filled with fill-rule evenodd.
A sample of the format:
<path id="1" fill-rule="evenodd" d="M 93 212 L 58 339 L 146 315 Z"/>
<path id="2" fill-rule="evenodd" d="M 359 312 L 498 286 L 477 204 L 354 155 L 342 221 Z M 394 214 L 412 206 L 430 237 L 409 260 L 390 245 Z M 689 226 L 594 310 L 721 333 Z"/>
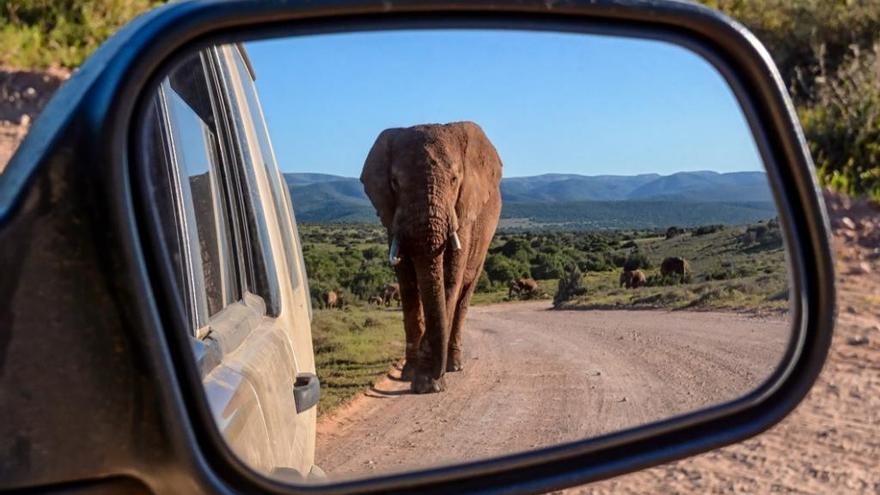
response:
<path id="1" fill-rule="evenodd" d="M 303 222 L 376 222 L 359 179 L 284 174 Z M 763 172 L 545 174 L 501 181 L 502 226 L 578 229 L 738 224 L 776 215 Z"/>

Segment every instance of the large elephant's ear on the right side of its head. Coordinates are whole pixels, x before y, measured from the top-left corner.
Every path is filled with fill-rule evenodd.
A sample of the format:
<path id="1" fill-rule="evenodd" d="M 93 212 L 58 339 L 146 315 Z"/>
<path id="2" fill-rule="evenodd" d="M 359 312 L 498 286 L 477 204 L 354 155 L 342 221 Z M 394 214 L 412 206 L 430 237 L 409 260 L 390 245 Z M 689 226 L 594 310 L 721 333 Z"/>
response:
<path id="1" fill-rule="evenodd" d="M 473 222 L 489 199 L 501 194 L 501 158 L 480 126 L 473 122 L 459 126 L 464 173 L 455 210 L 459 222 Z"/>

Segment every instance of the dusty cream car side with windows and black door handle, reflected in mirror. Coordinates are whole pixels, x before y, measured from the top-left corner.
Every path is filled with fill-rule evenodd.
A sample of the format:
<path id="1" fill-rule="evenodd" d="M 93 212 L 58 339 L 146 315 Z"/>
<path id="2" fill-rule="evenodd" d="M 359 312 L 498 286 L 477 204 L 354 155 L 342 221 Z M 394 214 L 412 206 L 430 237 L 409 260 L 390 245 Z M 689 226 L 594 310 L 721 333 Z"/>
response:
<path id="1" fill-rule="evenodd" d="M 248 464 L 305 476 L 319 390 L 307 302 L 298 297 L 305 275 L 292 212 L 274 201 L 274 159 L 263 158 L 255 132 L 262 117 L 244 96 L 253 80 L 228 60 L 234 53 L 243 56 L 234 46 L 203 50 L 162 81 L 156 155 L 215 420 Z"/>

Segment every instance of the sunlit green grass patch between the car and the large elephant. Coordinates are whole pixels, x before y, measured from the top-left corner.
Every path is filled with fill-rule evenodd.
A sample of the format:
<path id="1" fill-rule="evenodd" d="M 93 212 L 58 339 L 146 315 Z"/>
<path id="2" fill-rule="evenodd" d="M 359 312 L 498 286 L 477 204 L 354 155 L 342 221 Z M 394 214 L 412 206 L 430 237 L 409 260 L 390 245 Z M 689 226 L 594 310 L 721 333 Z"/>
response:
<path id="1" fill-rule="evenodd" d="M 321 380 L 318 414 L 325 415 L 369 388 L 403 357 L 403 320 L 396 310 L 317 310 L 312 339 Z"/>

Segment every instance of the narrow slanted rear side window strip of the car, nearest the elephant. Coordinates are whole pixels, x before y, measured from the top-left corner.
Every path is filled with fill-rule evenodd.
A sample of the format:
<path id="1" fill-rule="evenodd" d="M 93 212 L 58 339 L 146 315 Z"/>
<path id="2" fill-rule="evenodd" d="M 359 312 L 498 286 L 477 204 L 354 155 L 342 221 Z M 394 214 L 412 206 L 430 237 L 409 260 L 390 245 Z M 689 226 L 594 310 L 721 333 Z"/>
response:
<path id="1" fill-rule="evenodd" d="M 247 111 L 250 113 L 251 122 L 254 126 L 254 133 L 257 137 L 259 145 L 259 158 L 261 165 L 266 170 L 266 176 L 269 179 L 269 185 L 272 188 L 272 201 L 275 203 L 275 210 L 278 212 L 279 225 L 282 231 L 284 243 L 284 254 L 287 257 L 287 266 L 290 270 L 290 282 L 294 288 L 301 284 L 301 277 L 298 272 L 299 256 L 295 253 L 298 251 L 294 246 L 297 233 L 295 231 L 295 222 L 293 219 L 293 211 L 290 202 L 287 199 L 284 188 L 286 184 L 280 175 L 278 165 L 275 162 L 275 152 L 272 149 L 272 142 L 269 140 L 269 130 L 266 128 L 266 121 L 263 118 L 263 109 L 260 105 L 260 99 L 257 96 L 257 89 L 254 86 L 254 74 L 246 63 L 240 49 L 230 50 L 232 59 L 235 62 L 238 73 L 243 78 L 242 90 L 245 96 Z M 247 79 L 244 79 L 247 78 Z"/>

